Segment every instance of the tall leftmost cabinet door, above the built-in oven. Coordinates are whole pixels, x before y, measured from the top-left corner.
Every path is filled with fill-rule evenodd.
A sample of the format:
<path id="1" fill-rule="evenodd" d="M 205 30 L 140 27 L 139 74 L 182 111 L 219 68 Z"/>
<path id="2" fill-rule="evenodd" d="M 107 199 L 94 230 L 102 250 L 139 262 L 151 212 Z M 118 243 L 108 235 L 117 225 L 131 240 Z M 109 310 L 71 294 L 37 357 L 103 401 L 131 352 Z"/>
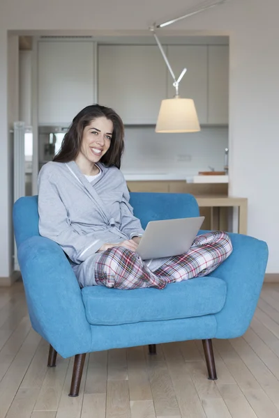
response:
<path id="1" fill-rule="evenodd" d="M 93 42 L 38 42 L 38 123 L 69 124 L 93 104 Z"/>

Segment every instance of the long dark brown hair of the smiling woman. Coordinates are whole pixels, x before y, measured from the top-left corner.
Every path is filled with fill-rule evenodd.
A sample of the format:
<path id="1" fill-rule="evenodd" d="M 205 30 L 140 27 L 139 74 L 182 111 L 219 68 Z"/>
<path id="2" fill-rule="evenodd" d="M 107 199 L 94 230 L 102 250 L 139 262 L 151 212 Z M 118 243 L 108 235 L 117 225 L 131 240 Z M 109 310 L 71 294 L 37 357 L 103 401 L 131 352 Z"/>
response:
<path id="1" fill-rule="evenodd" d="M 120 169 L 121 156 L 124 150 L 124 126 L 118 114 L 110 107 L 100 106 L 100 104 L 92 104 L 84 107 L 80 113 L 73 118 L 68 132 L 63 138 L 59 152 L 54 156 L 55 162 L 70 162 L 76 159 L 82 146 L 83 131 L 86 126 L 96 119 L 105 116 L 112 121 L 114 130 L 112 132 L 112 141 L 110 148 L 100 159 L 107 167 L 117 167 Z"/>

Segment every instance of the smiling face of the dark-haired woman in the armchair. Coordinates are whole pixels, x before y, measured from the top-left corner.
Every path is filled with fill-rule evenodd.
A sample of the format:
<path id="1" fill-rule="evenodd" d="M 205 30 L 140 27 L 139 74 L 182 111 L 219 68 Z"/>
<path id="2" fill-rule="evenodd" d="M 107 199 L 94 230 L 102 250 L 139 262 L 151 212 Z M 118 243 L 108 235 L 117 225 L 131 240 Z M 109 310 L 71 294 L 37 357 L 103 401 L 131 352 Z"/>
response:
<path id="1" fill-rule="evenodd" d="M 105 116 L 93 119 L 84 127 L 80 154 L 91 163 L 98 162 L 110 148 L 113 123 Z"/>

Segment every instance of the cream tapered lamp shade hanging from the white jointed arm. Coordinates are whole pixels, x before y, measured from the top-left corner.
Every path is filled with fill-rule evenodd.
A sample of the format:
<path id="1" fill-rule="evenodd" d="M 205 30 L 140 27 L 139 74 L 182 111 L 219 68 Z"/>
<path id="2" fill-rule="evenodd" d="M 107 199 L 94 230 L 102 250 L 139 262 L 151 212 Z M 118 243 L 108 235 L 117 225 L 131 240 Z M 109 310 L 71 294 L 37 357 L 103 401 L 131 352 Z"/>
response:
<path id="1" fill-rule="evenodd" d="M 176 96 L 173 99 L 162 100 L 156 132 L 198 132 L 199 120 L 195 103 L 192 99 L 182 99 Z"/>

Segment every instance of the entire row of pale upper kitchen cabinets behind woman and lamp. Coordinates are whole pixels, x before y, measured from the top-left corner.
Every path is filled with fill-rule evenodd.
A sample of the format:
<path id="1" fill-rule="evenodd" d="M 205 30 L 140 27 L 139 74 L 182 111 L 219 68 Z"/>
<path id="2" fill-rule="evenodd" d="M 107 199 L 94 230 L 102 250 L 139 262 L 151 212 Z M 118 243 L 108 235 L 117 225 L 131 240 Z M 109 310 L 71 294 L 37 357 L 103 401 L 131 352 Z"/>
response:
<path id="1" fill-rule="evenodd" d="M 84 40 L 38 41 L 39 125 L 68 125 L 97 96 L 126 125 L 155 125 L 161 100 L 175 93 L 158 46 L 98 45 L 96 62 L 95 45 Z M 229 46 L 163 47 L 176 77 L 187 68 L 179 94 L 193 98 L 199 123 L 227 125 Z"/>

